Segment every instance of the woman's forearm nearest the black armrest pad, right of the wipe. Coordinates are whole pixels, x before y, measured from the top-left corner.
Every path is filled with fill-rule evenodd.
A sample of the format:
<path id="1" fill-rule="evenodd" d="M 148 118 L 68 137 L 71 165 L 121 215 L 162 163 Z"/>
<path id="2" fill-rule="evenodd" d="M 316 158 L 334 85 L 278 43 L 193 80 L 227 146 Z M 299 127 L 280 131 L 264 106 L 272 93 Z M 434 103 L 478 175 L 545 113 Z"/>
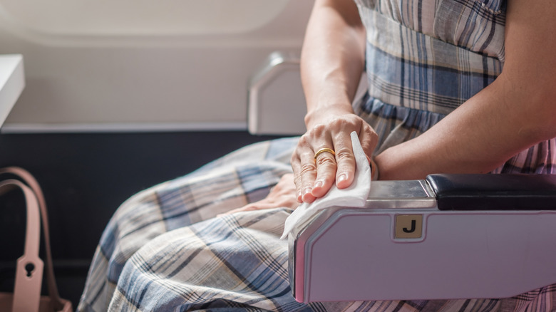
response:
<path id="1" fill-rule="evenodd" d="M 535 98 L 500 76 L 421 136 L 378 155 L 381 180 L 490 172 L 556 135 L 556 111 L 547 109 L 553 102 L 554 98 Z"/>

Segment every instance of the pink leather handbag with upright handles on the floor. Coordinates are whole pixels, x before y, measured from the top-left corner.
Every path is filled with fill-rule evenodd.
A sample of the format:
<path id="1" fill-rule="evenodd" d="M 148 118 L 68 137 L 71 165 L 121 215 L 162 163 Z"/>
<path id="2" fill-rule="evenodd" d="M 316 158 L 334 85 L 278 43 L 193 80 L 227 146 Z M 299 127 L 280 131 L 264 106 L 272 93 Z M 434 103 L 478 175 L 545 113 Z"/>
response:
<path id="1" fill-rule="evenodd" d="M 0 168 L 0 174 L 9 173 L 20 180 L 9 179 L 0 182 L 0 194 L 19 188 L 25 195 L 27 206 L 27 229 L 24 255 L 17 260 L 14 293 L 0 293 L 0 311 L 12 312 L 53 312 L 72 311 L 71 302 L 60 298 L 50 250 L 48 236 L 48 216 L 41 187 L 35 178 L 19 167 Z M 48 296 L 41 296 L 43 261 L 38 257 L 41 240 L 41 220 L 43 222 L 44 245 L 46 251 L 46 284 Z"/>

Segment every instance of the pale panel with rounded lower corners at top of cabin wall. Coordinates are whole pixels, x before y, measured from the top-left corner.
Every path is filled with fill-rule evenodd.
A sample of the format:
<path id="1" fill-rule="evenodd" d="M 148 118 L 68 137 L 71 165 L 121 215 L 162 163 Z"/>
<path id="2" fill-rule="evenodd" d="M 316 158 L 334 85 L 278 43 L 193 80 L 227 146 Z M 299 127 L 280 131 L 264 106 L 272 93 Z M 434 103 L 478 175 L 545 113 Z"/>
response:
<path id="1" fill-rule="evenodd" d="M 51 36 L 243 33 L 277 17 L 288 0 L 0 0 L 13 24 Z"/>

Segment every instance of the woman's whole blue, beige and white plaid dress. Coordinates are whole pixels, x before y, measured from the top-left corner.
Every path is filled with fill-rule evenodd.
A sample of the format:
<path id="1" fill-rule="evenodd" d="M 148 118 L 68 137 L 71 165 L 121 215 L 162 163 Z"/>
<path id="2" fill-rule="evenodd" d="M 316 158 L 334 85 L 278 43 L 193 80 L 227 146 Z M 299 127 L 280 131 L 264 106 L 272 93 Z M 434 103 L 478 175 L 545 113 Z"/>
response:
<path id="1" fill-rule="evenodd" d="M 431 128 L 498 76 L 500 0 L 356 0 L 367 28 L 369 92 L 354 105 L 377 152 Z M 457 17 L 457 18 L 455 18 Z M 285 208 L 215 217 L 264 198 L 291 172 L 297 138 L 249 145 L 136 194 L 101 237 L 78 311 L 550 311 L 555 286 L 514 298 L 327 302 L 292 297 Z M 555 173 L 555 140 L 495 172 Z"/>

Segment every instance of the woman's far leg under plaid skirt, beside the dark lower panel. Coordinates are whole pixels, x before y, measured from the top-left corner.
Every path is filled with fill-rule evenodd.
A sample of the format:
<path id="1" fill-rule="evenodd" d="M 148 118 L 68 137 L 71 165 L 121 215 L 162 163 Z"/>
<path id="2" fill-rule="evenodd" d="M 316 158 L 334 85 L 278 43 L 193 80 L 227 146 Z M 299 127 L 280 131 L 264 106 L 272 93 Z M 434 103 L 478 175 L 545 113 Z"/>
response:
<path id="1" fill-rule="evenodd" d="M 264 198 L 287 172 L 297 139 L 249 145 L 184 177 L 135 194 L 105 228 L 80 311 L 106 311 L 126 261 L 148 241 Z"/>

